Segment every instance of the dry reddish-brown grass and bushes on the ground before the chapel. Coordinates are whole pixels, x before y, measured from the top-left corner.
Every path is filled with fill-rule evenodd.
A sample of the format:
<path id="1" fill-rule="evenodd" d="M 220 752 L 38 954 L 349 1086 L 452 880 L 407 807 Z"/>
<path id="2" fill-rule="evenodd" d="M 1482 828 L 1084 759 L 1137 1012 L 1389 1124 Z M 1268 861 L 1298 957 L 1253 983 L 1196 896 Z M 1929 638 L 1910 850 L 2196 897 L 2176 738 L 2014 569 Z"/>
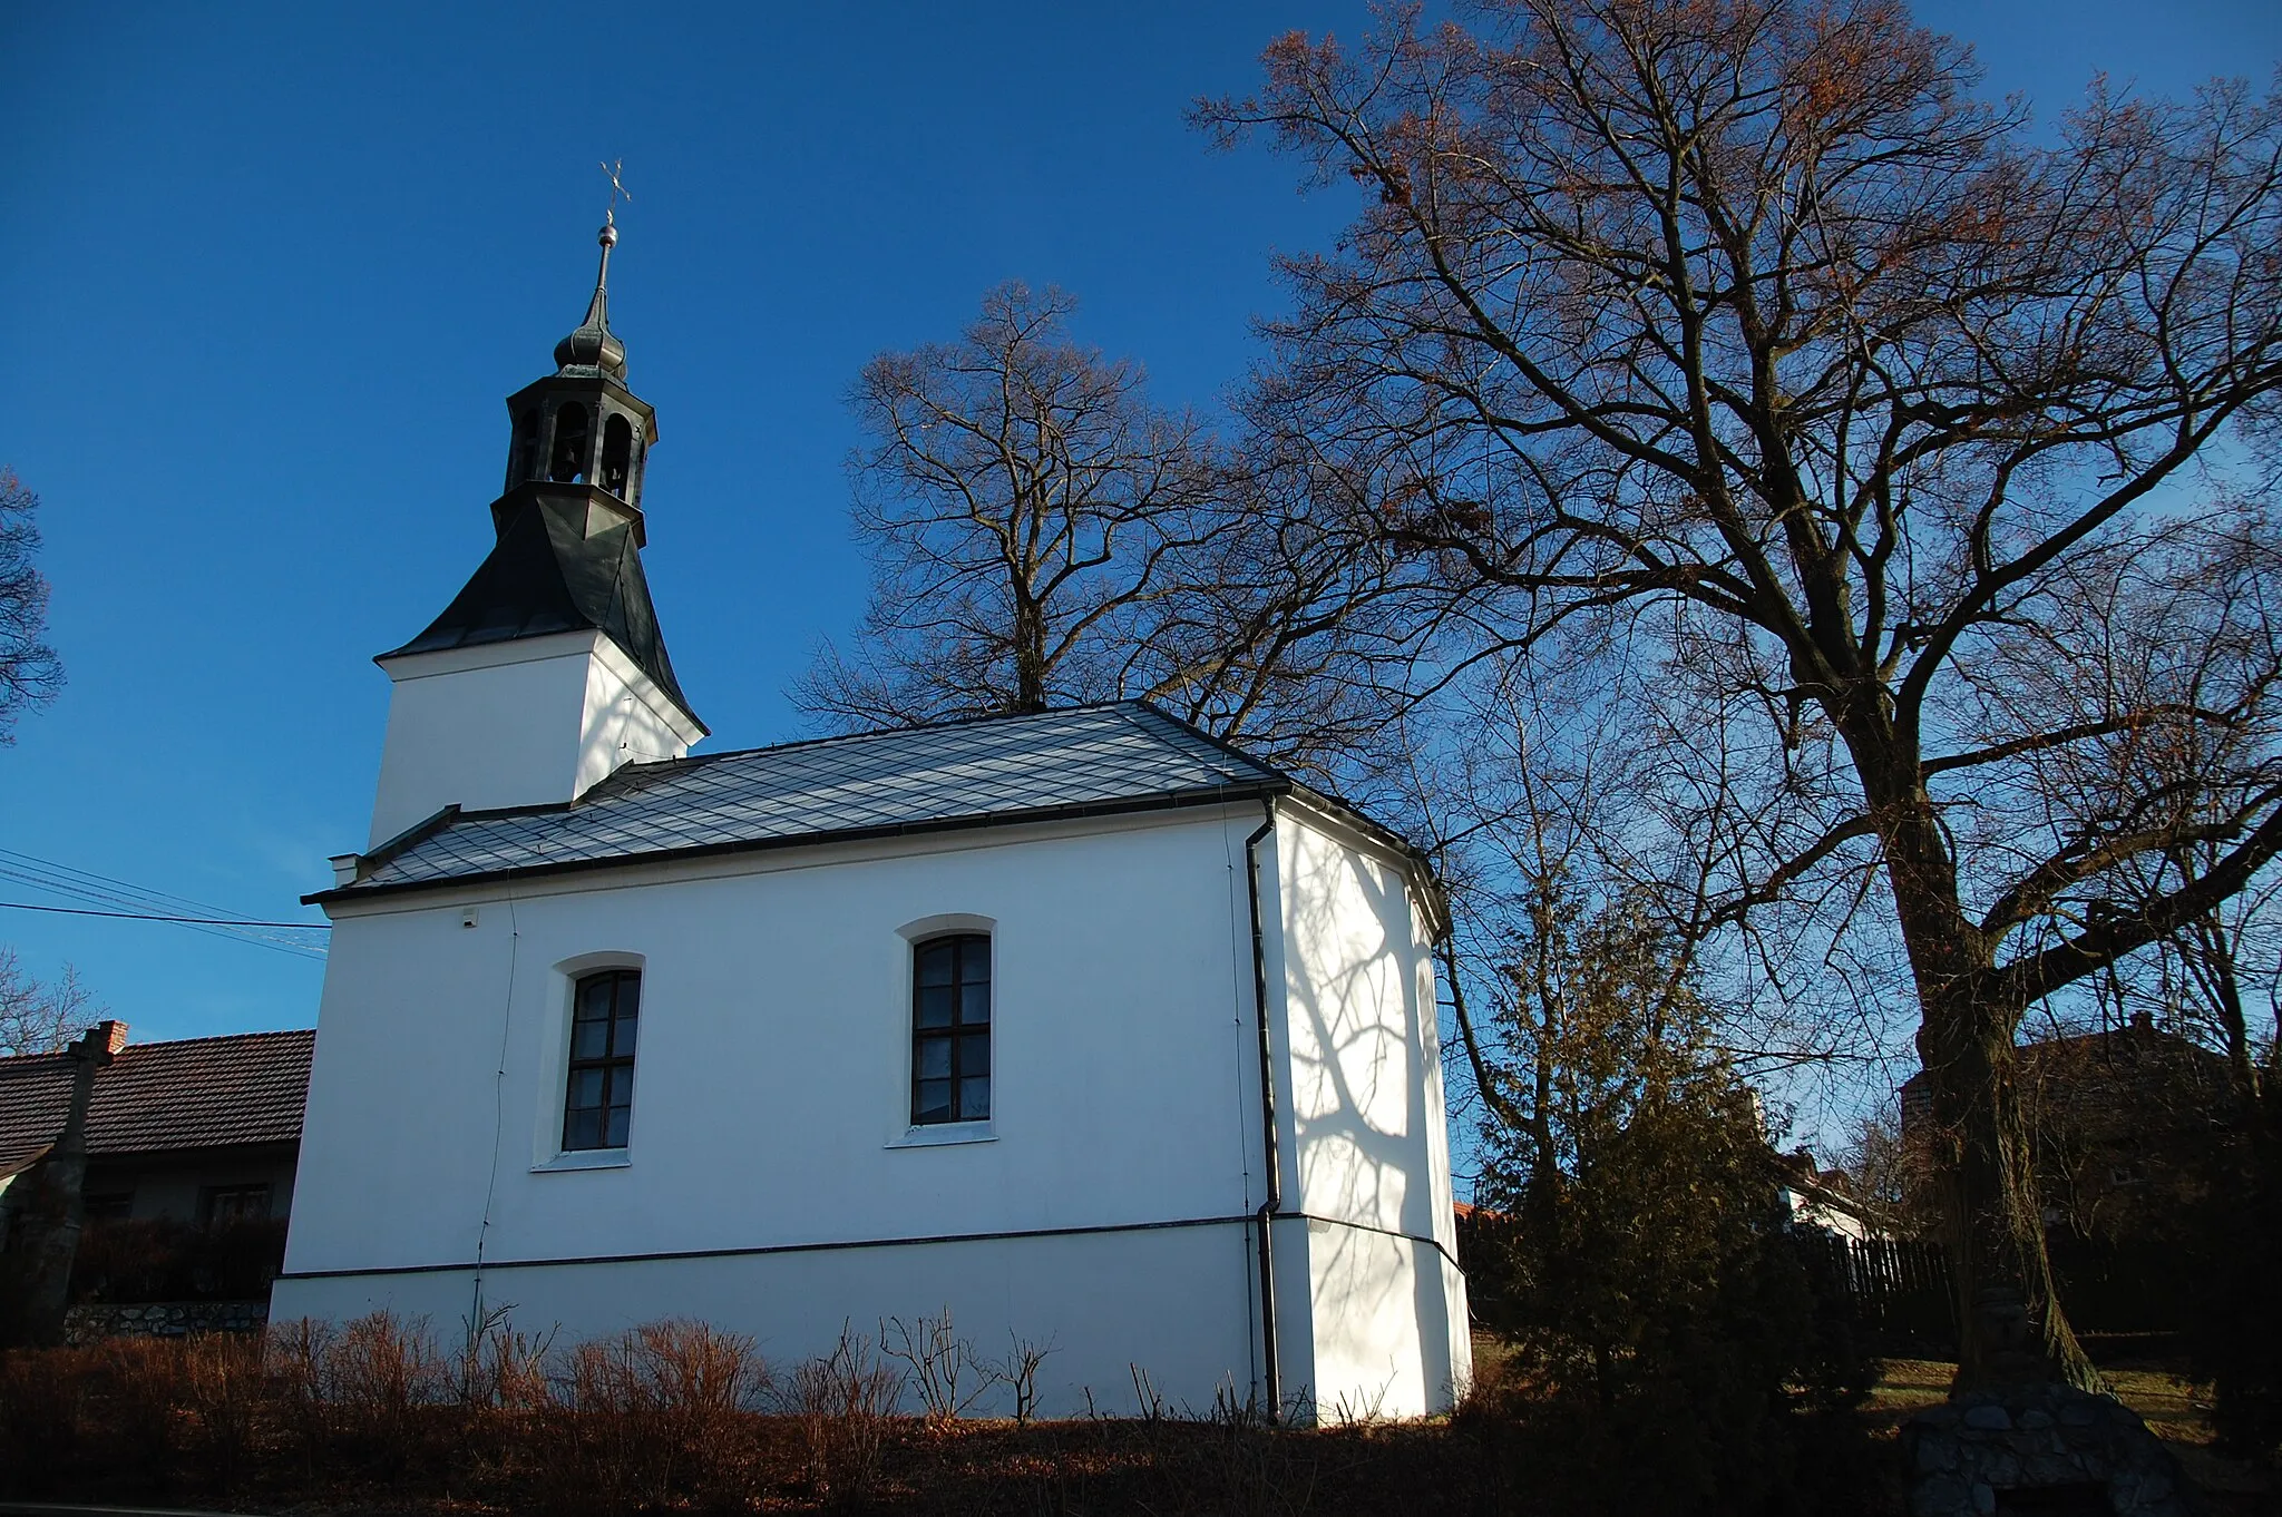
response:
<path id="1" fill-rule="evenodd" d="M 1481 1344 L 1497 1378 L 1502 1350 Z M 1020 1426 L 926 1417 L 904 1364 L 849 1332 L 769 1366 L 748 1339 L 650 1323 L 552 1346 L 504 1319 L 452 1332 L 365 1319 L 258 1339 L 110 1341 L 0 1355 L 0 1499 L 418 1512 L 1002 1512 L 1349 1517 L 1545 1512 L 1486 1421 L 1280 1430 L 1207 1419 Z M 1889 1455 L 1855 1510 L 1899 1510 L 1892 1435 L 1951 1366 L 1892 1360 L 1864 1412 Z M 2113 1371 L 2223 1517 L 2275 1510 L 2259 1471 L 2209 1453 L 2198 1387 Z M 1584 1471 L 1577 1471 L 1584 1474 Z"/>

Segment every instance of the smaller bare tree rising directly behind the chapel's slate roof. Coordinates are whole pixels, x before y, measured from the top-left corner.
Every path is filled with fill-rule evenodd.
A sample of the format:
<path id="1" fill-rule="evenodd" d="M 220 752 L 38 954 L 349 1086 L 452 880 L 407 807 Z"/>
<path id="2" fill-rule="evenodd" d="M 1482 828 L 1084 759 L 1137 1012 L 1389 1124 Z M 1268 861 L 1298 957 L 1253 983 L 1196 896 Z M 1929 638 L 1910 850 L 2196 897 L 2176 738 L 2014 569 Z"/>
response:
<path id="1" fill-rule="evenodd" d="M 1123 693 L 1134 625 L 1214 525 L 1214 449 L 1130 360 L 1068 335 L 1075 301 L 1000 285 L 958 342 L 881 354 L 851 461 L 874 595 L 853 662 L 826 652 L 803 705 L 913 723 Z"/>

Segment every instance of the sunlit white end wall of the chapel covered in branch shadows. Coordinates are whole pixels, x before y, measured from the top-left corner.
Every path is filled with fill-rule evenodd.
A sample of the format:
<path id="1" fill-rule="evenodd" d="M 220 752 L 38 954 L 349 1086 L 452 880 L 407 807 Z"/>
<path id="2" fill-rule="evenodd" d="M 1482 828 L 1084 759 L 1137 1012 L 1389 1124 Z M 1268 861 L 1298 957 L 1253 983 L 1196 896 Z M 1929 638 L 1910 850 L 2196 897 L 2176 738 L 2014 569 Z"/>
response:
<path id="1" fill-rule="evenodd" d="M 1326 1419 L 1440 1410 L 1472 1355 L 1429 931 L 1406 871 L 1344 828 L 1285 808 L 1276 851 L 1308 1387 Z"/>

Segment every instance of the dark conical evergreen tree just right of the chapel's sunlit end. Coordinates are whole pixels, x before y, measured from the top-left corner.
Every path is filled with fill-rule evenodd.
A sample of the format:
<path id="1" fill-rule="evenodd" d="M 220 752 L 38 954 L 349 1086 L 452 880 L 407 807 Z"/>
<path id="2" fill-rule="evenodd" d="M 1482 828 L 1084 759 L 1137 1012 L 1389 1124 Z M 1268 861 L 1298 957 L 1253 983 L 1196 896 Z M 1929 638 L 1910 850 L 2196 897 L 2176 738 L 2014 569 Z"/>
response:
<path id="1" fill-rule="evenodd" d="M 1595 1510 L 1807 1510 L 1837 1471 L 1803 1437 L 1874 1366 L 1791 1232 L 1757 1100 L 1645 912 L 1554 881 L 1524 919 L 1467 1259 L 1513 1348 L 1486 1410 Z"/>

